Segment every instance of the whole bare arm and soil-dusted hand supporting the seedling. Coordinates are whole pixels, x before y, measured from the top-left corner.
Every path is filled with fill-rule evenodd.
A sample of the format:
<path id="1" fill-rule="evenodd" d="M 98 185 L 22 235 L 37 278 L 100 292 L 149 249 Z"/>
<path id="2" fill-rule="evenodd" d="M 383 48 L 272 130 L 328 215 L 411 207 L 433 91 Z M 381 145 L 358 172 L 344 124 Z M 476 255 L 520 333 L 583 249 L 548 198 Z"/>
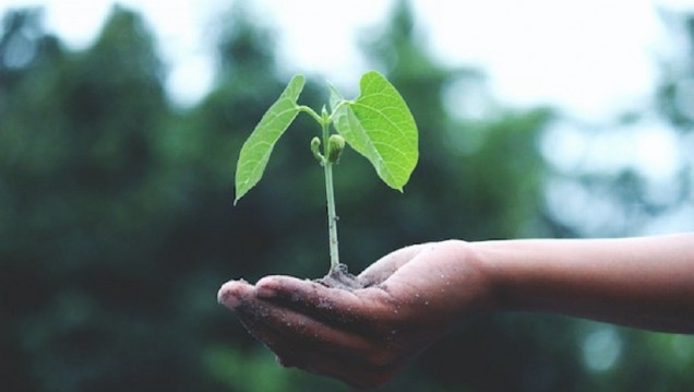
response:
<path id="1" fill-rule="evenodd" d="M 447 240 L 398 249 L 345 290 L 290 276 L 230 281 L 218 300 L 283 366 L 387 382 L 460 319 L 537 311 L 694 333 L 694 234 Z"/>

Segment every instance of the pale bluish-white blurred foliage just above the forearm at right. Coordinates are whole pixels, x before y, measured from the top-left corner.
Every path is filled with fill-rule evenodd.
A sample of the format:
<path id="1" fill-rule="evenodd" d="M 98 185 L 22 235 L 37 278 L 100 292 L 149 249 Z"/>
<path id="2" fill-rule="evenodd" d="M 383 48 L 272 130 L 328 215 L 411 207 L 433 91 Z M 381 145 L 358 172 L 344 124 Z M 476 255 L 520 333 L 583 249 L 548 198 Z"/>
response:
<path id="1" fill-rule="evenodd" d="M 661 70 L 653 99 L 601 123 L 564 118 L 564 129 L 550 132 L 561 139 L 565 128 L 574 129 L 584 147 L 573 154 L 585 157 L 552 178 L 555 187 L 548 194 L 559 202 L 549 206 L 549 222 L 558 233 L 630 236 L 693 227 L 689 216 L 694 211 L 694 17 L 662 10 L 660 14 L 671 40 L 684 46 L 658 59 Z M 615 147 L 601 147 L 608 143 Z M 600 158 L 614 163 L 591 165 Z M 588 205 L 601 213 L 572 214 Z"/>

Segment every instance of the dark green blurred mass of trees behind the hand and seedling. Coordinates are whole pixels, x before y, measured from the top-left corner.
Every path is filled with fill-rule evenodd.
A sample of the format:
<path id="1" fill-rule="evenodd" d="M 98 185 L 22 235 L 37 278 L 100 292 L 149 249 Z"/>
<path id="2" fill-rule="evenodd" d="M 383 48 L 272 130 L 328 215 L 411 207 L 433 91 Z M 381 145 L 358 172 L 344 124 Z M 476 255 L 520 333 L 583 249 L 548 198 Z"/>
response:
<path id="1" fill-rule="evenodd" d="M 309 152 L 319 130 L 308 119 L 278 143 L 253 197 L 231 207 L 241 143 L 288 80 L 273 31 L 253 12 L 236 2 L 219 22 L 217 83 L 190 109 L 170 107 L 166 70 L 137 14 L 115 8 L 82 51 L 45 32 L 38 11 L 5 15 L 2 388 L 349 390 L 276 366 L 214 301 L 227 278 L 313 277 L 328 266 L 322 170 Z M 421 161 L 399 195 L 346 151 L 337 209 L 343 259 L 355 271 L 411 242 L 542 236 L 559 226 L 542 205 L 548 168 L 538 149 L 555 115 L 501 107 L 480 72 L 442 66 L 416 26 L 400 1 L 363 44 L 412 109 Z M 314 79 L 301 97 L 312 107 L 327 97 Z M 476 115 L 456 100 L 470 86 L 481 94 L 464 105 L 484 108 Z M 680 337 L 557 317 L 481 318 L 382 390 L 677 389 L 691 384 L 694 360 Z"/>

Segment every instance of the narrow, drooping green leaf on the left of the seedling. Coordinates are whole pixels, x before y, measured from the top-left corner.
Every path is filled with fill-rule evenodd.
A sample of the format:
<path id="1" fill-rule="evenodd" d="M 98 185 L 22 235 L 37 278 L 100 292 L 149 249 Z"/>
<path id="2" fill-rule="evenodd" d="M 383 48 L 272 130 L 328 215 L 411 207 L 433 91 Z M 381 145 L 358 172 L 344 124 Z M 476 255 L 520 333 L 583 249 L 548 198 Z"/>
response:
<path id="1" fill-rule="evenodd" d="M 297 99 L 303 90 L 303 75 L 295 75 L 279 98 L 267 109 L 248 138 L 236 166 L 236 204 L 253 188 L 265 171 L 275 143 L 299 114 Z"/>

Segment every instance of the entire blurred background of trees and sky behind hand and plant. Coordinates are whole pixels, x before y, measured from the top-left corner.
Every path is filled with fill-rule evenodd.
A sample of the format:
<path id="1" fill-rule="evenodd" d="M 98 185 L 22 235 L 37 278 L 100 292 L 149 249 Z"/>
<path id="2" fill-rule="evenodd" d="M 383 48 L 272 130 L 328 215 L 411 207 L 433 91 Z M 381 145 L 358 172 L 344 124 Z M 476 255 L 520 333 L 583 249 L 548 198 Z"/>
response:
<path id="1" fill-rule="evenodd" d="M 327 271 L 308 118 L 231 205 L 241 143 L 292 73 L 319 109 L 325 79 L 352 97 L 380 70 L 419 126 L 404 194 L 352 151 L 336 167 L 352 272 L 446 238 L 694 229 L 692 4 L 76 3 L 0 7 L 2 391 L 348 390 L 280 368 L 215 298 Z M 685 391 L 692 369 L 692 336 L 498 314 L 380 390 Z"/>

